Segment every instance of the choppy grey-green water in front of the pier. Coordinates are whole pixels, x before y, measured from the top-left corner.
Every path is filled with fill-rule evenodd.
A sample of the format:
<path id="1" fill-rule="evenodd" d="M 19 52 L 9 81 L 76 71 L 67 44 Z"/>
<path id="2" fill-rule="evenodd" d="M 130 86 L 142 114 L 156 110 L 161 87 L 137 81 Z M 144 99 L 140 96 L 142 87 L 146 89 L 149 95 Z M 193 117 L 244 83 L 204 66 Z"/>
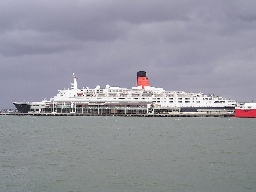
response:
<path id="1" fill-rule="evenodd" d="M 0 190 L 255 191 L 255 123 L 0 116 Z"/>

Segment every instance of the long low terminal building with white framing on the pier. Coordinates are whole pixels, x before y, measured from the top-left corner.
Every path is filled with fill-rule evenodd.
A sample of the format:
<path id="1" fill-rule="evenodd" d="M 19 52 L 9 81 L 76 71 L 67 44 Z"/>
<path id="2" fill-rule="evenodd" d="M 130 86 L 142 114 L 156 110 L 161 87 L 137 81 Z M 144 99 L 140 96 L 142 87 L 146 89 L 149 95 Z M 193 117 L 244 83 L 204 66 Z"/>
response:
<path id="1" fill-rule="evenodd" d="M 74 114 L 160 114 L 179 113 L 180 108 L 161 108 L 153 102 L 48 102 L 31 105 L 28 113 Z"/>

